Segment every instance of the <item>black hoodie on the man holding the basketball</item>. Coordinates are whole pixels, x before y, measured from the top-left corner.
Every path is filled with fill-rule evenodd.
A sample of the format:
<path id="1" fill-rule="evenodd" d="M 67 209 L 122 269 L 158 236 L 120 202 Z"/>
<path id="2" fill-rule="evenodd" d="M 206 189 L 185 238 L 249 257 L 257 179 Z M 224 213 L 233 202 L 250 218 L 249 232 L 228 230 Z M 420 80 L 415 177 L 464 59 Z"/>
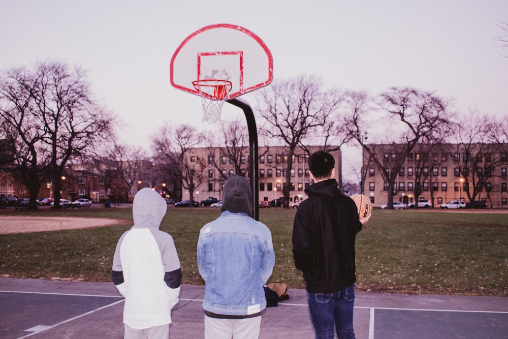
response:
<path id="1" fill-rule="evenodd" d="M 311 185 L 293 225 L 293 257 L 307 291 L 333 293 L 356 281 L 355 238 L 362 229 L 355 202 L 335 179 Z"/>

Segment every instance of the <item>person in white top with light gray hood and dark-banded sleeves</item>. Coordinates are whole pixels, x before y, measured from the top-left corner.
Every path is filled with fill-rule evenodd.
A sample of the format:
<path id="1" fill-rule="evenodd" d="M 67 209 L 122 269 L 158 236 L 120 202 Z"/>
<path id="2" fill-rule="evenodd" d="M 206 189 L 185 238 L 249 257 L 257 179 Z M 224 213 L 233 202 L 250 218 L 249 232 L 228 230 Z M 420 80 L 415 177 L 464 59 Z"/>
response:
<path id="1" fill-rule="evenodd" d="M 134 226 L 122 234 L 111 278 L 121 295 L 124 338 L 168 338 L 182 277 L 173 237 L 159 230 L 168 205 L 155 191 L 134 197 Z"/>

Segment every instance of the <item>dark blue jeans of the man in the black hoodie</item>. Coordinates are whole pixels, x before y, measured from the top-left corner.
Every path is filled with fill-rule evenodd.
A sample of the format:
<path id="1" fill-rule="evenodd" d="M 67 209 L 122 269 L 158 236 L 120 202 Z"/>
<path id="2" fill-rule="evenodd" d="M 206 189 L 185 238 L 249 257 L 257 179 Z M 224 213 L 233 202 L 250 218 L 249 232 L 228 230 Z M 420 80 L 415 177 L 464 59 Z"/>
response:
<path id="1" fill-rule="evenodd" d="M 355 284 L 334 293 L 307 293 L 310 320 L 316 339 L 354 339 Z"/>

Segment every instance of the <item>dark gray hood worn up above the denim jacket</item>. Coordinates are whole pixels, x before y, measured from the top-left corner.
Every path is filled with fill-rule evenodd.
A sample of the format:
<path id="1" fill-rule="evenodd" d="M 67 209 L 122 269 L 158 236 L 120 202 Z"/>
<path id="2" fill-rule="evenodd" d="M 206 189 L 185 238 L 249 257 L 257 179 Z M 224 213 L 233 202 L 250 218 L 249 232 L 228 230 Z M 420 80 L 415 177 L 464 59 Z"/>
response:
<path id="1" fill-rule="evenodd" d="M 224 183 L 222 210 L 231 213 L 243 212 L 252 217 L 250 184 L 243 176 L 232 176 Z"/>

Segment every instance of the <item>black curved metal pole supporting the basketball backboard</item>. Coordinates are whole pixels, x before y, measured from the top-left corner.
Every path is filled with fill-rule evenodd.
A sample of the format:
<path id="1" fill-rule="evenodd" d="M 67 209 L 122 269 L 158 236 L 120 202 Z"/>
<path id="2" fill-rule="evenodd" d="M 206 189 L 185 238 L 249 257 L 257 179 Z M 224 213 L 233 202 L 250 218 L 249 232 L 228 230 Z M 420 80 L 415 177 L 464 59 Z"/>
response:
<path id="1" fill-rule="evenodd" d="M 252 191 L 252 218 L 259 221 L 259 163 L 258 163 L 258 128 L 256 127 L 256 119 L 250 105 L 242 99 L 235 98 L 228 100 L 228 102 L 236 107 L 239 107 L 245 113 L 247 119 L 247 129 L 249 132 L 249 145 L 250 145 L 250 164 L 249 164 L 249 179 L 250 190 Z"/>

